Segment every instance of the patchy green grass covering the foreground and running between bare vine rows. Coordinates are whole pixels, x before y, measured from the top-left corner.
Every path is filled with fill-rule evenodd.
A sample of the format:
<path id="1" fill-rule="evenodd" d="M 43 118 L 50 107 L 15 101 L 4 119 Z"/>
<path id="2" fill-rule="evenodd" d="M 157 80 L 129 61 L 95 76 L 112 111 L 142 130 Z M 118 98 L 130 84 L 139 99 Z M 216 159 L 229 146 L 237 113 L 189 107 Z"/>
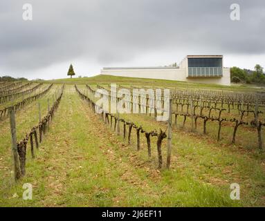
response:
<path id="1" fill-rule="evenodd" d="M 141 81 L 143 84 L 143 79 Z M 70 82 L 73 84 L 74 79 Z M 165 84 L 161 82 L 157 84 Z M 81 83 L 84 81 L 80 80 Z M 129 81 L 120 84 L 129 84 Z M 54 86 L 38 102 L 46 106 L 48 97 L 51 99 L 56 88 L 60 85 Z M 36 104 L 33 102 L 17 113 L 19 138 L 37 123 Z M 42 114 L 45 113 L 46 109 L 42 108 Z M 166 127 L 145 115 L 121 117 L 137 122 L 147 130 Z M 172 168 L 157 170 L 154 137 L 149 159 L 143 135 L 140 151 L 136 151 L 134 130 L 131 145 L 128 145 L 122 136 L 92 113 L 88 104 L 78 97 L 73 85 L 67 85 L 37 157 L 31 160 L 28 150 L 26 177 L 15 183 L 10 173 L 12 157 L 8 124 L 8 119 L 0 122 L 0 206 L 265 205 L 264 155 L 253 148 L 245 148 L 249 142 L 255 146 L 255 141 L 253 137 L 244 140 L 247 133 L 241 131 L 237 137 L 240 145 L 234 146 L 225 141 L 226 133 L 230 131 L 222 131 L 223 140 L 216 142 L 213 139 L 214 123 L 210 122 L 208 135 L 202 136 L 200 131 L 190 131 L 188 121 L 185 128 L 174 128 Z M 120 128 L 122 134 L 122 126 Z M 165 155 L 166 140 L 163 141 L 163 160 Z M 230 200 L 230 184 L 233 182 L 240 184 L 241 200 Z M 22 200 L 24 183 L 33 184 L 33 200 Z"/>

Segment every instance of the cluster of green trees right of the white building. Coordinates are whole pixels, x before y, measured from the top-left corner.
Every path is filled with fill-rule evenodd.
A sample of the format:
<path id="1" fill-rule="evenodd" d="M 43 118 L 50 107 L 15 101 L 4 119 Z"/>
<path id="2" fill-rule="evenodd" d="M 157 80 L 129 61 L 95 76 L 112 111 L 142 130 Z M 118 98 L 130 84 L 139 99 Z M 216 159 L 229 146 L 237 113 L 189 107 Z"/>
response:
<path id="1" fill-rule="evenodd" d="M 246 84 L 250 84 L 250 83 L 265 84 L 264 69 L 259 64 L 255 66 L 254 71 L 232 67 L 230 68 L 230 73 L 231 73 L 231 76 L 230 76 L 231 81 L 234 83 L 238 83 L 239 81 L 241 81 Z"/>

